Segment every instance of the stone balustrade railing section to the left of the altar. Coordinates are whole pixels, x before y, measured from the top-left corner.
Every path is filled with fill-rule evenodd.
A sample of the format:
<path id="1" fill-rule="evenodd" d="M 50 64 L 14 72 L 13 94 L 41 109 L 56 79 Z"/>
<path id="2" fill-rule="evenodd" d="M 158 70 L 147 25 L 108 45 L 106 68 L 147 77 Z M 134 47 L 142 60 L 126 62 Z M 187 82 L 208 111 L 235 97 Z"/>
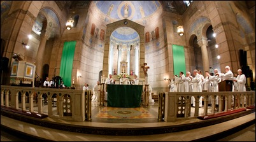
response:
<path id="1" fill-rule="evenodd" d="M 88 96 L 92 96 L 91 91 L 1 85 L 1 106 L 75 121 L 90 120 Z"/>

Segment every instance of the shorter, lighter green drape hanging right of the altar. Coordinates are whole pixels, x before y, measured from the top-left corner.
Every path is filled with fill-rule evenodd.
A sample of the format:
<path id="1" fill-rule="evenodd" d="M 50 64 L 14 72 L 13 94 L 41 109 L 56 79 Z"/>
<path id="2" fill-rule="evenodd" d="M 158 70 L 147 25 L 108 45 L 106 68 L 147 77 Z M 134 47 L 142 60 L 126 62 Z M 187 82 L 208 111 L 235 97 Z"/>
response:
<path id="1" fill-rule="evenodd" d="M 173 70 L 174 75 L 180 75 L 183 71 L 186 75 L 185 52 L 183 46 L 173 45 Z"/>

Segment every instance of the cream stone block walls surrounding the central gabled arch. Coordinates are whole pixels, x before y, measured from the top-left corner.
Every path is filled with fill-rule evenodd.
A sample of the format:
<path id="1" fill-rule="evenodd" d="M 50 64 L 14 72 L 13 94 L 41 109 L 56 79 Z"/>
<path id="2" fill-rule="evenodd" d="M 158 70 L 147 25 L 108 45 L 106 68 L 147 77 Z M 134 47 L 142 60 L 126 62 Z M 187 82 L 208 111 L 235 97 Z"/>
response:
<path id="1" fill-rule="evenodd" d="M 45 8 L 49 8 L 56 14 L 59 24 L 49 27 L 49 22 L 53 22 L 54 19 L 43 12 Z M 10 59 L 9 66 L 13 61 L 11 58 L 13 53 L 21 53 L 27 62 L 34 62 L 37 59 L 41 37 L 32 32 L 32 26 L 40 15 L 45 16 L 47 26 L 44 28 L 50 35 L 46 39 L 41 65 L 41 67 L 45 64 L 49 65 L 49 78 L 54 76 L 55 70 L 55 75 L 59 75 L 65 41 L 76 41 L 72 73 L 76 89 L 82 89 L 85 82 L 89 83 L 89 88 L 92 89 L 96 81 L 100 79 L 101 71 L 102 75 L 108 75 L 110 35 L 117 27 L 124 25 L 122 22 L 118 22 L 117 25 L 113 24 L 117 19 L 104 15 L 93 1 L 89 8 L 71 10 L 61 9 L 55 1 L 13 1 L 8 17 L 1 25 L 1 38 L 6 42 L 3 57 Z M 66 21 L 74 15 L 79 15 L 78 23 L 76 27 L 68 31 L 65 29 Z M 240 68 L 239 50 L 243 49 L 247 52 L 248 66 L 252 69 L 253 80 L 255 80 L 255 17 L 252 17 L 253 15 L 255 15 L 255 6 L 246 10 L 246 4 L 241 1 L 193 1 L 183 15 L 163 11 L 160 6 L 152 16 L 131 22 L 134 29 L 136 29 L 136 24 L 144 26 L 144 28 L 136 29 L 141 40 L 139 78 L 144 78 L 141 66 L 146 62 L 150 66 L 148 83 L 152 85 L 153 92 L 169 90 L 164 77 L 173 76 L 172 45 L 174 44 L 184 46 L 186 70 L 191 72 L 196 67 L 203 69 L 205 54 L 200 53 L 202 46 L 206 46 L 209 66 L 220 69 L 220 72 L 224 72 L 225 66 L 230 66 L 231 70 L 236 72 Z M 109 21 L 105 21 L 106 17 Z M 242 17 L 242 22 L 239 21 L 241 20 L 239 17 Z M 176 33 L 176 25 L 173 25 L 175 21 L 183 24 L 184 36 L 178 36 Z M 99 29 L 97 37 L 95 31 L 94 36 L 90 34 L 92 24 Z M 113 24 L 110 29 L 107 29 L 108 24 Z M 215 45 L 207 45 L 205 42 L 207 40 L 206 29 L 210 25 L 217 33 L 215 40 L 218 49 L 214 47 Z M 155 31 L 156 27 L 159 27 L 159 38 L 152 40 L 151 32 Z M 251 32 L 246 31 L 246 28 Z M 104 41 L 99 39 L 101 29 L 105 32 Z M 146 32 L 150 32 L 149 43 L 145 43 Z M 28 39 L 28 34 L 32 34 L 34 38 Z M 197 37 L 201 49 L 195 49 L 191 45 L 194 36 Z M 31 45 L 31 48 L 22 48 L 22 41 Z M 131 56 L 133 55 L 134 52 L 131 52 Z M 216 59 L 217 55 L 220 55 L 219 60 Z M 196 60 L 202 62 L 196 64 Z M 10 73 L 6 76 L 10 76 Z M 78 76 L 82 77 L 78 78 Z"/>

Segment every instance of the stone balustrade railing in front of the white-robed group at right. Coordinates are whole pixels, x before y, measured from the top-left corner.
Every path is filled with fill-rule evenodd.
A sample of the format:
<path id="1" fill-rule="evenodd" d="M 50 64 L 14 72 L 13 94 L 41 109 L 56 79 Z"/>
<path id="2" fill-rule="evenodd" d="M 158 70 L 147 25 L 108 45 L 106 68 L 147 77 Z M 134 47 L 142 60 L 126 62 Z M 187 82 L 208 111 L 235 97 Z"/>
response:
<path id="1" fill-rule="evenodd" d="M 247 106 L 255 104 L 255 91 L 165 92 L 164 94 L 164 121 L 166 122 L 174 122 L 176 120 L 196 118 L 208 114 L 246 108 Z M 194 97 L 196 103 L 193 109 L 191 101 L 192 97 Z M 203 107 L 199 107 L 200 98 L 203 99 Z M 161 99 L 162 98 L 159 98 L 159 100 Z M 211 108 L 208 107 L 208 104 L 210 103 Z M 208 108 L 211 109 L 210 113 L 208 113 Z M 200 110 L 201 113 L 199 113 Z"/>

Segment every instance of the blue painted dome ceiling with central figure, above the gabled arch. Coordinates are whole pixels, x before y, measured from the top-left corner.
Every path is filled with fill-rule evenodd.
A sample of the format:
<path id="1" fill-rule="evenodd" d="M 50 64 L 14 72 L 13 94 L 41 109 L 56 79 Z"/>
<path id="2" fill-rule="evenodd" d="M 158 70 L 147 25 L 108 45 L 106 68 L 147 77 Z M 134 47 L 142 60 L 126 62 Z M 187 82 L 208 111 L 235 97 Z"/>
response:
<path id="1" fill-rule="evenodd" d="M 159 9 L 159 1 L 94 1 L 99 11 L 110 18 L 139 20 Z"/>

